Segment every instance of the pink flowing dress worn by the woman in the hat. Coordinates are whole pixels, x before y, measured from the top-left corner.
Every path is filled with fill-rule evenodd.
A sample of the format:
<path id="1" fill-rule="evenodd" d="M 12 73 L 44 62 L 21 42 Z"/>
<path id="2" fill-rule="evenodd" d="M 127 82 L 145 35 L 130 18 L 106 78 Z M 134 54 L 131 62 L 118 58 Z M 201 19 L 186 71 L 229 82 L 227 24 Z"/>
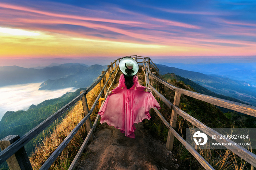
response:
<path id="1" fill-rule="evenodd" d="M 98 113 L 101 116 L 101 124 L 106 122 L 120 129 L 125 136 L 135 138 L 134 123 L 142 122 L 144 119 L 149 120 L 150 108 L 160 109 L 160 105 L 152 93 L 144 92 L 146 87 L 139 84 L 138 76 L 133 77 L 134 84 L 130 89 L 126 88 L 124 81 L 124 74 L 122 74 L 118 86 L 106 98 Z"/>

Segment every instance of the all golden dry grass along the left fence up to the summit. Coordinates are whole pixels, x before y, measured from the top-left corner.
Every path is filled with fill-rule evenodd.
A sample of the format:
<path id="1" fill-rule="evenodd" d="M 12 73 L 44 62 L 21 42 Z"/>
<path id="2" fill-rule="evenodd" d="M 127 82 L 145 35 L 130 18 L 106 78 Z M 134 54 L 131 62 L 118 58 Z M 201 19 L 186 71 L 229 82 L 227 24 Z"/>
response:
<path id="1" fill-rule="evenodd" d="M 106 80 L 108 80 L 108 73 L 106 74 Z M 103 81 L 101 81 L 101 88 L 103 88 Z M 107 85 L 107 89 L 110 86 L 110 82 Z M 96 100 L 98 94 L 101 91 L 100 84 L 96 85 L 87 95 L 87 103 L 89 110 Z M 103 95 L 102 95 L 103 97 Z M 95 107 L 90 118 L 94 122 L 98 114 L 98 105 Z M 72 111 L 61 121 L 61 123 L 56 124 L 54 131 L 50 132 L 50 136 L 44 136 L 44 139 L 38 141 L 38 145 L 35 146 L 35 151 L 30 157 L 30 162 L 33 169 L 39 169 L 44 162 L 50 157 L 54 150 L 63 142 L 63 140 L 68 136 L 68 134 L 76 127 L 76 125 L 83 119 L 83 106 L 82 102 L 78 101 L 76 105 L 72 108 Z M 67 147 L 61 152 L 59 157 L 54 161 L 50 170 L 66 170 L 70 166 L 72 160 L 75 158 L 76 153 L 79 151 L 86 138 L 86 127 L 85 124 L 80 128 L 80 130 L 75 134 L 74 138 L 69 142 Z"/>

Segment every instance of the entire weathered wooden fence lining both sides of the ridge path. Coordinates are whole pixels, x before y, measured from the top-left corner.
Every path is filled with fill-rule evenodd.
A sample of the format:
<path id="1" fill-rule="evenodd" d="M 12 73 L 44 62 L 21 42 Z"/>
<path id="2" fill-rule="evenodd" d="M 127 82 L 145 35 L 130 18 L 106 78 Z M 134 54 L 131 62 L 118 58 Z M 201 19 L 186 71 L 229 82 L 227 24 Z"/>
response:
<path id="1" fill-rule="evenodd" d="M 174 142 L 174 137 L 176 137 L 187 149 L 191 154 L 197 159 L 197 161 L 200 162 L 200 164 L 205 168 L 205 169 L 213 169 L 213 167 L 191 146 L 189 145 L 176 131 L 176 121 L 177 121 L 177 115 L 180 115 L 183 117 L 185 120 L 189 121 L 191 124 L 195 125 L 198 127 L 200 130 L 202 130 L 204 133 L 207 135 L 220 135 L 218 132 L 212 130 L 210 127 L 207 127 L 204 125 L 202 122 L 199 120 L 195 119 L 194 117 L 190 116 L 188 113 L 182 111 L 179 108 L 180 104 L 180 97 L 181 94 L 196 98 L 198 100 L 205 101 L 207 103 L 211 103 L 214 105 L 218 105 L 220 107 L 224 107 L 227 109 L 232 109 L 234 111 L 238 111 L 241 113 L 245 113 L 247 115 L 251 115 L 256 117 L 256 107 L 249 106 L 249 105 L 244 105 L 228 100 L 223 100 L 220 98 L 216 97 L 211 97 L 207 95 L 203 95 L 200 93 L 196 92 L 191 92 L 189 90 L 185 89 L 180 89 L 177 88 L 168 82 L 162 80 L 158 76 L 156 76 L 154 73 L 151 72 L 152 68 L 154 67 L 156 70 L 159 70 L 157 66 L 153 63 L 151 58 L 149 57 L 141 57 L 138 55 L 129 55 L 126 57 L 131 57 L 135 58 L 135 60 L 138 62 L 138 59 L 143 59 L 142 62 L 142 67 L 143 71 L 145 74 L 145 80 L 146 80 L 146 86 L 150 87 L 151 90 L 159 97 L 161 100 L 172 109 L 172 115 L 171 115 L 171 120 L 170 124 L 165 120 L 165 118 L 161 115 L 161 113 L 157 110 L 154 109 L 157 115 L 160 117 L 160 119 L 163 121 L 163 123 L 166 125 L 166 127 L 169 129 L 168 137 L 167 137 L 167 142 L 166 142 L 166 147 L 168 150 L 172 150 L 173 148 L 173 142 Z M 93 131 L 97 125 L 99 115 L 97 115 L 94 124 L 91 125 L 91 120 L 90 120 L 90 115 L 93 112 L 94 108 L 96 107 L 98 101 L 101 104 L 101 101 L 104 99 L 101 98 L 102 94 L 105 95 L 105 98 L 107 97 L 107 93 L 110 90 L 110 88 L 113 85 L 113 82 L 116 79 L 117 72 L 119 70 L 119 67 L 117 65 L 117 61 L 120 62 L 120 59 L 117 59 L 113 63 L 111 63 L 108 66 L 108 69 L 105 72 L 102 72 L 102 76 L 98 78 L 89 88 L 87 88 L 84 91 L 80 92 L 80 95 L 74 98 L 71 102 L 69 102 L 67 105 L 65 105 L 63 108 L 61 108 L 59 111 L 55 112 L 52 116 L 48 117 L 48 119 L 44 120 L 42 123 L 37 125 L 37 127 L 33 128 L 31 131 L 29 131 L 27 134 L 22 136 L 21 138 L 17 137 L 17 135 L 12 135 L 12 136 L 7 136 L 6 138 L 2 139 L 0 142 L 0 146 L 2 151 L 0 152 L 0 164 L 3 163 L 4 161 L 7 160 L 7 163 L 10 167 L 10 169 L 32 169 L 30 162 L 27 161 L 27 156 L 24 154 L 26 152 L 24 150 L 24 145 L 29 142 L 31 139 L 33 139 L 35 136 L 37 136 L 40 132 L 42 132 L 46 127 L 48 127 L 50 124 L 52 124 L 56 119 L 58 119 L 63 113 L 65 113 L 69 108 L 74 106 L 76 102 L 79 100 L 82 100 L 82 105 L 84 109 L 84 118 L 76 125 L 74 130 L 64 139 L 64 141 L 60 144 L 59 147 L 56 148 L 56 150 L 50 155 L 50 157 L 46 160 L 46 162 L 42 165 L 40 170 L 46 170 L 48 169 L 52 163 L 57 159 L 57 157 L 61 154 L 61 152 L 64 150 L 64 148 L 67 146 L 67 144 L 71 141 L 71 139 L 74 137 L 76 132 L 82 127 L 84 123 L 86 123 L 86 130 L 87 130 L 87 137 L 84 140 L 80 150 L 78 151 L 74 161 L 71 163 L 71 166 L 69 167 L 69 170 L 72 170 L 75 168 L 76 163 L 78 162 L 85 146 L 87 143 L 93 139 Z M 113 66 L 114 65 L 114 66 Z M 106 80 L 106 73 L 109 74 L 108 80 Z M 114 75 L 115 74 L 115 75 Z M 163 85 L 166 87 L 170 88 L 175 92 L 174 96 L 174 102 L 173 104 L 167 100 L 161 93 L 159 93 L 154 87 L 153 87 L 153 80 L 157 80 L 161 82 Z M 108 89 L 106 89 L 107 83 L 111 82 L 111 85 L 109 86 Z M 87 104 L 87 99 L 86 99 L 86 94 L 90 92 L 91 89 L 93 89 L 97 84 L 100 84 L 100 87 L 103 83 L 103 88 L 101 89 L 100 93 L 98 94 L 97 99 L 94 101 L 93 106 L 91 107 L 90 111 L 88 108 Z M 103 103 L 101 104 L 102 107 Z M 229 139 L 216 139 L 217 142 L 226 142 L 226 143 L 234 143 L 233 141 Z M 253 154 L 252 152 L 246 150 L 245 148 L 241 146 L 226 146 L 229 150 L 237 154 L 239 157 L 244 159 L 245 161 L 249 162 L 251 165 L 256 167 L 256 155 Z M 25 155 L 26 158 L 18 158 L 17 155 L 21 155 L 20 153 L 23 153 L 22 155 Z M 15 160 L 16 162 L 15 162 Z M 23 161 L 17 161 L 22 159 Z M 14 163 L 15 162 L 15 163 Z"/>

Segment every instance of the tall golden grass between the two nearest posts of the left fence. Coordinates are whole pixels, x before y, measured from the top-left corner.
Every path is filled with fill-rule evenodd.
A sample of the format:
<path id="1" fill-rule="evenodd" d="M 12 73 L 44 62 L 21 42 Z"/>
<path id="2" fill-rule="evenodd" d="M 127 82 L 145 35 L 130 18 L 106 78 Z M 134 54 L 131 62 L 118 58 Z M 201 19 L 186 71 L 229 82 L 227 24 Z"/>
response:
<path id="1" fill-rule="evenodd" d="M 54 150 L 82 119 L 83 106 L 82 102 L 79 101 L 66 118 L 60 124 L 56 125 L 54 132 L 52 132 L 50 136 L 41 139 L 42 141 L 35 147 L 35 152 L 30 158 L 31 165 L 34 169 L 39 169 L 43 165 L 46 159 L 50 157 Z M 54 161 L 50 169 L 65 169 L 65 167 L 69 165 L 68 160 L 70 159 L 71 153 L 79 150 L 79 146 L 83 143 L 85 136 L 86 128 L 81 127 L 68 146 L 63 150 L 56 161 Z"/>

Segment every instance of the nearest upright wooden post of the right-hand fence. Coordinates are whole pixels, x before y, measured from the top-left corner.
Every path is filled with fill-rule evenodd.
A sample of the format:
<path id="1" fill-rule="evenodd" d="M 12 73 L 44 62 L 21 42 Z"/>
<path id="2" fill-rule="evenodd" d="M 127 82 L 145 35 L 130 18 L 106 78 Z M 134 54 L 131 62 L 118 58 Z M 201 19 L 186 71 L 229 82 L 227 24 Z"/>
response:
<path id="1" fill-rule="evenodd" d="M 176 105 L 177 107 L 179 107 L 179 105 L 180 105 L 180 96 L 181 96 L 181 93 L 175 92 L 173 104 Z M 176 121 L 177 121 L 177 113 L 174 110 L 172 110 L 170 125 L 172 126 L 172 128 L 174 130 L 176 128 Z M 173 142 L 174 142 L 174 135 L 169 130 L 168 136 L 167 136 L 167 141 L 166 141 L 167 150 L 169 150 L 169 151 L 173 150 Z"/>

